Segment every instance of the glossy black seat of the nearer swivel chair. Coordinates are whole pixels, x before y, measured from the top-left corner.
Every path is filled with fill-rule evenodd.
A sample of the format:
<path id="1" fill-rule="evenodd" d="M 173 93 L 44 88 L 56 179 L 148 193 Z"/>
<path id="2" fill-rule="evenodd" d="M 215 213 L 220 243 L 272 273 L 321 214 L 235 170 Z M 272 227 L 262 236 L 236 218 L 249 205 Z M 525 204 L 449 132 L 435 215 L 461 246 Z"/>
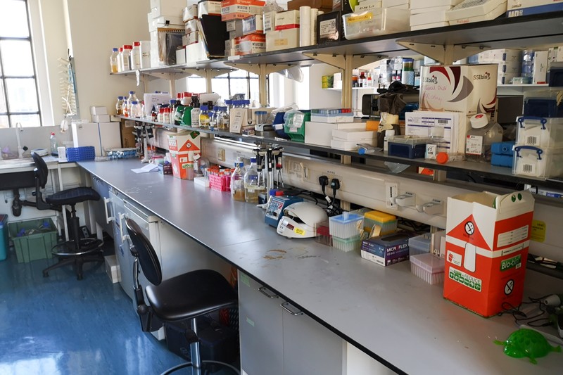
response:
<path id="1" fill-rule="evenodd" d="M 191 319 L 236 305 L 237 296 L 219 272 L 198 269 L 146 287 L 146 298 L 160 319 Z"/>

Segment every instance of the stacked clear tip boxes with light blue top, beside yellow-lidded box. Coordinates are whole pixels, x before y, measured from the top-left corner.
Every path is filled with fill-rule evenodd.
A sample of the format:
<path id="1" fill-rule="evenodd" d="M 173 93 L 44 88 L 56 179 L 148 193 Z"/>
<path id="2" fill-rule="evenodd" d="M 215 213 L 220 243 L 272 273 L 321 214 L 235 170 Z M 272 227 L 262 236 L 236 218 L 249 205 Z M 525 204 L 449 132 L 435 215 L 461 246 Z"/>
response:
<path id="1" fill-rule="evenodd" d="M 332 246 L 343 251 L 359 250 L 364 217 L 353 212 L 329 217 Z"/>

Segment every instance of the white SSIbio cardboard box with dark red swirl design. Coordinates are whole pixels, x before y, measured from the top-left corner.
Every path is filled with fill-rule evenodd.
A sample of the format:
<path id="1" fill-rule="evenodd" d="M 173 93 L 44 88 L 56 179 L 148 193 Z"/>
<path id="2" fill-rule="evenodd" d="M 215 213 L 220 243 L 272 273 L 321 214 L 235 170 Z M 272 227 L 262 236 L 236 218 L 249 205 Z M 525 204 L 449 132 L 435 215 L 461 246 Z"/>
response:
<path id="1" fill-rule="evenodd" d="M 434 65 L 421 68 L 419 106 L 465 115 L 494 113 L 498 65 Z"/>

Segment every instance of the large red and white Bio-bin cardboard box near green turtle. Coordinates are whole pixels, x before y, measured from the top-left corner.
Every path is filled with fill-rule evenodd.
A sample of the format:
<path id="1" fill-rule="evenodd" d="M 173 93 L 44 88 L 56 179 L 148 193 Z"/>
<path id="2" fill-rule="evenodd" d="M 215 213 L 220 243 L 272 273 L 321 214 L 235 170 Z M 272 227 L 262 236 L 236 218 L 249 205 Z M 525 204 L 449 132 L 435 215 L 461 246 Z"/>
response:
<path id="1" fill-rule="evenodd" d="M 483 317 L 521 303 L 533 203 L 528 191 L 448 198 L 445 299 Z"/>

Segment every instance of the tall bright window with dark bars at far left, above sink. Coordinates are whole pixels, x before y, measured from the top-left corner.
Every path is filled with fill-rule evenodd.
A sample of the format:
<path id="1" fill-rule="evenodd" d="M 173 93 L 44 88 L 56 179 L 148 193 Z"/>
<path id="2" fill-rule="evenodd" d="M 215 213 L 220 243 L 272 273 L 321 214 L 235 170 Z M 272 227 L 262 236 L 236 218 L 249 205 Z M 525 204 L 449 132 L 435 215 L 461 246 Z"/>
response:
<path id="1" fill-rule="evenodd" d="M 42 126 L 27 0 L 0 0 L 0 128 Z"/>

